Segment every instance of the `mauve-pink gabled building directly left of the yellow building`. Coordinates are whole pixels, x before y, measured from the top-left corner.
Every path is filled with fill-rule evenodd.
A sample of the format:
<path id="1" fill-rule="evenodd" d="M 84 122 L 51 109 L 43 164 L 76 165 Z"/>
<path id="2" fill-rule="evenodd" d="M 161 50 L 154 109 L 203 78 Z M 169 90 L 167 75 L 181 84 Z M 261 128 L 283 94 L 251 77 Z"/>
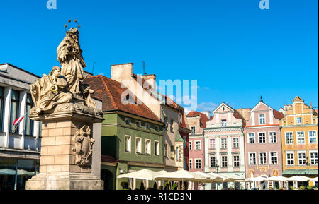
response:
<path id="1" fill-rule="evenodd" d="M 247 178 L 282 175 L 279 119 L 283 117 L 262 100 L 250 111 L 244 131 Z"/>

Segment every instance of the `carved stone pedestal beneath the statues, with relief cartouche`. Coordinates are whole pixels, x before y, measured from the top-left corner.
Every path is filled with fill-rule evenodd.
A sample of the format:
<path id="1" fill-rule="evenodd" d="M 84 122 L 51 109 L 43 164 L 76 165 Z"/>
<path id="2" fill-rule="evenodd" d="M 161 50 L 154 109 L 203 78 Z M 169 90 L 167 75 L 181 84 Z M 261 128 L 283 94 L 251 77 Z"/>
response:
<path id="1" fill-rule="evenodd" d="M 30 119 L 42 121 L 40 174 L 26 181 L 26 190 L 103 190 L 103 181 L 91 174 L 94 123 L 101 110 L 82 103 L 59 104 Z"/>

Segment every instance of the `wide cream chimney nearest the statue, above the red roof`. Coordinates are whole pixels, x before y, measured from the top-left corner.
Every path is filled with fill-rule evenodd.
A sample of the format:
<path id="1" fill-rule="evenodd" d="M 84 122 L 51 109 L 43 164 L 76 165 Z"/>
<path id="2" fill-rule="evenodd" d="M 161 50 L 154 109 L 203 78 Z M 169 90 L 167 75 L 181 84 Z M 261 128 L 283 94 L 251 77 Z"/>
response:
<path id="1" fill-rule="evenodd" d="M 133 76 L 133 63 L 111 65 L 111 79 L 118 82 L 130 80 Z"/>

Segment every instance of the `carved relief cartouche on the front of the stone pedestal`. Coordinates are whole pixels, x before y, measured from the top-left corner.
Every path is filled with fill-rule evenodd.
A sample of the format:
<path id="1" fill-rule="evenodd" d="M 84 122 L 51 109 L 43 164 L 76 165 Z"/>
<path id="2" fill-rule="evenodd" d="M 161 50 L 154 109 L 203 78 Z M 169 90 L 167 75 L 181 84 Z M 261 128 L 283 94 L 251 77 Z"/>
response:
<path id="1" fill-rule="evenodd" d="M 91 137 L 91 130 L 89 126 L 80 128 L 74 136 L 75 148 L 72 150 L 76 152 L 75 163 L 78 165 L 85 165 L 89 163 L 89 157 L 92 155 L 92 145 L 94 138 Z"/>

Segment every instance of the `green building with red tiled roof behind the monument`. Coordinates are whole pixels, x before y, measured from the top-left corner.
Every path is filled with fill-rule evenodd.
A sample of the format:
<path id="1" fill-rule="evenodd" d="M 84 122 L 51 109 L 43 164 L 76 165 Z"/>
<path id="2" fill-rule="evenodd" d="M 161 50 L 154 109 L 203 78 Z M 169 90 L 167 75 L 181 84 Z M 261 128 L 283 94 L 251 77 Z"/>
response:
<path id="1" fill-rule="evenodd" d="M 161 171 L 164 124 L 121 83 L 105 76 L 89 76 L 84 81 L 103 101 L 101 138 L 101 179 L 105 189 L 155 188 L 155 181 L 117 179 L 140 169 Z"/>

